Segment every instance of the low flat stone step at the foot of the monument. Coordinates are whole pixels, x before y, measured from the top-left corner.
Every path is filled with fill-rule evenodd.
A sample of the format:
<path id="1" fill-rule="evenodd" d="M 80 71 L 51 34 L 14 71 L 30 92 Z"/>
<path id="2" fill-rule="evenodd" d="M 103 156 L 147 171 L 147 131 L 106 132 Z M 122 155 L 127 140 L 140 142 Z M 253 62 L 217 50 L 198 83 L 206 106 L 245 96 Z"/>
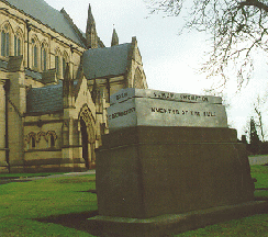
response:
<path id="1" fill-rule="evenodd" d="M 172 234 L 267 212 L 268 202 L 255 201 L 145 219 L 96 216 L 89 218 L 89 232 L 100 237 L 167 237 L 172 236 Z"/>

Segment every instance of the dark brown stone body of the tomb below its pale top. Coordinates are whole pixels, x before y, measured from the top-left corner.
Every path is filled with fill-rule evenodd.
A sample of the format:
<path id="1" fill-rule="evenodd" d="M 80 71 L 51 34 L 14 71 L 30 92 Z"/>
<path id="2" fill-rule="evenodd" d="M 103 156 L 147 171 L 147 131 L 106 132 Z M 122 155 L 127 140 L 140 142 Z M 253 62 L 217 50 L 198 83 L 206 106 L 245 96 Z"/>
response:
<path id="1" fill-rule="evenodd" d="M 102 142 L 100 216 L 146 219 L 254 200 L 248 158 L 235 129 L 137 126 Z"/>

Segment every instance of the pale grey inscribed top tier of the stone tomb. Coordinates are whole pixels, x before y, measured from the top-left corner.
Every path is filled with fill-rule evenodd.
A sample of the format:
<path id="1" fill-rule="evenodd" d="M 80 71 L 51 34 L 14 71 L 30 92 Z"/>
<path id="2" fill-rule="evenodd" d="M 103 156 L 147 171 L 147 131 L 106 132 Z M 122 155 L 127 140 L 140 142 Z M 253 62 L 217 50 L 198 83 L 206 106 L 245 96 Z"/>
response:
<path id="1" fill-rule="evenodd" d="M 222 99 L 129 88 L 111 97 L 111 132 L 131 126 L 227 127 Z"/>

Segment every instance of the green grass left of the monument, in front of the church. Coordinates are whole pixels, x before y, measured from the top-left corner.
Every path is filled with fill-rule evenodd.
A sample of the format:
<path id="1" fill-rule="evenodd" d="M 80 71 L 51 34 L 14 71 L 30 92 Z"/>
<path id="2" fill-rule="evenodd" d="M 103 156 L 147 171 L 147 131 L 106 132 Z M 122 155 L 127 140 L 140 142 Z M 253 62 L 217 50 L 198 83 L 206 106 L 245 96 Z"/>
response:
<path id="1" fill-rule="evenodd" d="M 75 228 L 36 218 L 98 208 L 94 176 L 42 179 L 0 185 L 0 236 L 91 236 Z"/>

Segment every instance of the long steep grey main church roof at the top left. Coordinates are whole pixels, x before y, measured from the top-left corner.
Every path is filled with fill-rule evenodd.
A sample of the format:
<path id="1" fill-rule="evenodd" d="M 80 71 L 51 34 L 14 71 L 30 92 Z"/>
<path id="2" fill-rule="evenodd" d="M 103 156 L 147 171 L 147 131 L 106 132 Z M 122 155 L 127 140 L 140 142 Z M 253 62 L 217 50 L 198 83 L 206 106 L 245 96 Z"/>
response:
<path id="1" fill-rule="evenodd" d="M 48 25 L 51 29 L 58 33 L 64 34 L 66 37 L 72 40 L 79 45 L 83 45 L 81 38 L 76 33 L 72 25 L 67 21 L 64 14 L 48 5 L 44 0 L 2 0 L 22 10 L 24 13 L 40 20 L 43 24 Z"/>

